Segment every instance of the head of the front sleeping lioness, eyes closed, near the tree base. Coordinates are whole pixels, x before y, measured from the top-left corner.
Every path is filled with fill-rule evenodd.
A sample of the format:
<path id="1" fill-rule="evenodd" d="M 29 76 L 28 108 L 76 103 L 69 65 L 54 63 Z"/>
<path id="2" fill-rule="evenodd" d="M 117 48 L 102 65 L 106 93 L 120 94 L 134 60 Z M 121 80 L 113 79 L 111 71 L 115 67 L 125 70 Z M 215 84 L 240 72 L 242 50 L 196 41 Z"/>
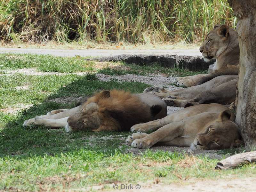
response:
<path id="1" fill-rule="evenodd" d="M 191 144 L 194 149 L 225 149 L 242 145 L 237 125 L 230 121 L 231 111 L 225 110 L 219 118 L 205 127 L 205 132 L 198 134 Z"/>

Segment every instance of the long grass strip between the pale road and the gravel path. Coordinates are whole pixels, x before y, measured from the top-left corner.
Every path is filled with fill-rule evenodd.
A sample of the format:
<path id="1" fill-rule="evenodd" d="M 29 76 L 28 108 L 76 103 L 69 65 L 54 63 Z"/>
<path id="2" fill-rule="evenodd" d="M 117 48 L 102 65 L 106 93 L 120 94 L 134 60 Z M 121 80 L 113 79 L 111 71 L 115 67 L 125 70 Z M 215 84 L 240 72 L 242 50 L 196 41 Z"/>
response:
<path id="1" fill-rule="evenodd" d="M 36 54 L 0 54 L 0 70 L 20 69 L 20 68 L 36 68 L 42 72 L 87 72 L 96 78 L 95 72 L 106 75 L 142 75 L 148 73 L 163 74 L 165 76 L 190 76 L 196 74 L 204 74 L 207 71 L 190 71 L 180 68 L 166 68 L 158 64 L 151 66 L 139 66 L 134 64 L 125 64 L 122 62 L 110 62 L 113 66 L 106 64 L 102 69 L 96 69 L 97 65 L 94 61 L 86 61 L 83 57 L 54 57 L 50 55 Z M 3 72 L 3 74 L 6 73 Z M 94 74 L 94 75 L 93 75 Z"/>

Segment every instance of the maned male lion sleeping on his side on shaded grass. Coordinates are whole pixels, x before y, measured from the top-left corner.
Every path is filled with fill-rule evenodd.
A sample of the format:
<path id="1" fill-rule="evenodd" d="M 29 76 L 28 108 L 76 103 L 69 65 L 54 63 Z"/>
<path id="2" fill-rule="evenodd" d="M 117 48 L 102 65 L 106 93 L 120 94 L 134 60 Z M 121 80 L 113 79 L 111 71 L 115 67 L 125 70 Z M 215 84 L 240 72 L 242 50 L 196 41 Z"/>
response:
<path id="1" fill-rule="evenodd" d="M 155 95 L 112 90 L 97 93 L 78 107 L 58 109 L 47 115 L 28 119 L 23 126 L 65 127 L 67 132 L 128 131 L 134 124 L 160 119 L 166 115 L 165 102 Z"/>

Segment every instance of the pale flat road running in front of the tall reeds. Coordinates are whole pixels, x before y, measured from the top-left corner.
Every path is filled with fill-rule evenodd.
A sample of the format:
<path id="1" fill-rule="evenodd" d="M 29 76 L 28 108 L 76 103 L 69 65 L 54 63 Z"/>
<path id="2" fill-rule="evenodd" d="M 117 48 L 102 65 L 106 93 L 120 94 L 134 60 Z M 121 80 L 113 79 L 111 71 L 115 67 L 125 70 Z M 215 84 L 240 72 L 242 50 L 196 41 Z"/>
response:
<path id="1" fill-rule="evenodd" d="M 23 49 L 23 48 L 0 48 L 0 53 L 34 53 L 34 54 L 50 54 L 61 57 L 74 57 L 79 55 L 81 57 L 106 57 L 121 54 L 157 54 L 157 55 L 187 55 L 187 56 L 201 56 L 198 49 L 145 49 L 145 50 L 108 50 L 108 49 L 84 49 L 84 50 L 59 50 L 59 49 Z"/>

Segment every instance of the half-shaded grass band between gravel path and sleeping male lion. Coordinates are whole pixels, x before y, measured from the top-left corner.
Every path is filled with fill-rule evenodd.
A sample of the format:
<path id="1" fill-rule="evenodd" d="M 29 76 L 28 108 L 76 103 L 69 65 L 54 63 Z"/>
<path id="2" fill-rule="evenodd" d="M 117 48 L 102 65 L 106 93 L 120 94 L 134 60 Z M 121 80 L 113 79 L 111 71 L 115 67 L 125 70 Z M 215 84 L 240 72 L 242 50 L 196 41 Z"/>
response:
<path id="1" fill-rule="evenodd" d="M 0 76 L 0 108 L 22 104 L 38 104 L 46 97 L 81 97 L 92 95 L 97 90 L 124 89 L 133 93 L 143 92 L 150 86 L 140 82 L 98 81 L 93 74 L 27 76 L 14 74 Z M 17 87 L 28 85 L 28 90 Z"/>

